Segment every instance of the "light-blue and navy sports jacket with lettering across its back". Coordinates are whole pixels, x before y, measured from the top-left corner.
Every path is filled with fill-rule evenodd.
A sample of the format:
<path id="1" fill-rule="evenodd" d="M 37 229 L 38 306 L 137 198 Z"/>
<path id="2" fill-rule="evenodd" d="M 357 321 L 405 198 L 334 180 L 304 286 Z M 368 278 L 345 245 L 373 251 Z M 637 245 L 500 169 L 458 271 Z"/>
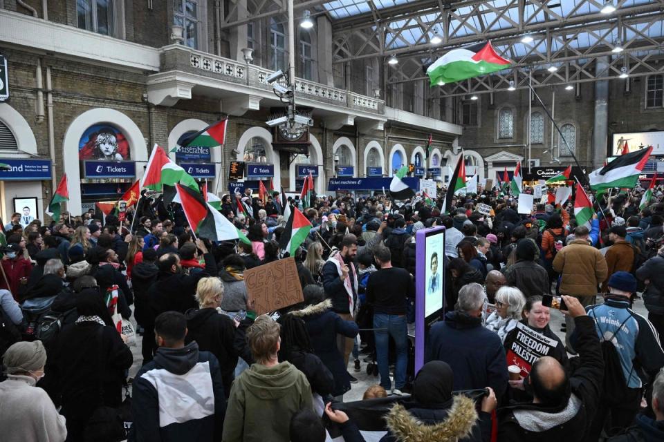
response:
<path id="1" fill-rule="evenodd" d="M 620 324 L 625 322 L 612 343 L 618 350 L 627 387 L 641 387 L 635 362 L 649 376 L 656 375 L 664 366 L 664 351 L 655 327 L 649 320 L 629 308 L 627 298 L 623 296 L 606 298 L 604 304 L 591 305 L 586 311 L 588 316 L 596 320 L 595 329 L 600 341 L 611 339 Z"/>

